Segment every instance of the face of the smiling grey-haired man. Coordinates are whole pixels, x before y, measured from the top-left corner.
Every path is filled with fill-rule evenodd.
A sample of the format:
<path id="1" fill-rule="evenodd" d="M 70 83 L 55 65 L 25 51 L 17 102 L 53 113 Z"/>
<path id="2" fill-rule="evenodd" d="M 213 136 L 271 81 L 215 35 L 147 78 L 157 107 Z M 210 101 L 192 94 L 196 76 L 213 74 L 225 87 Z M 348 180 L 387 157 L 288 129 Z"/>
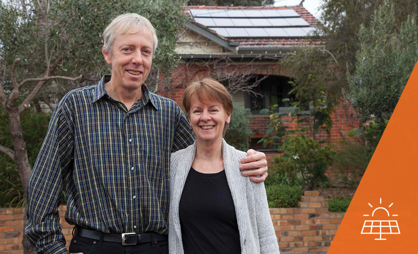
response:
<path id="1" fill-rule="evenodd" d="M 106 62 L 112 67 L 112 84 L 127 90 L 141 88 L 151 70 L 152 47 L 153 38 L 147 29 L 117 34 L 112 52 L 103 48 Z"/>

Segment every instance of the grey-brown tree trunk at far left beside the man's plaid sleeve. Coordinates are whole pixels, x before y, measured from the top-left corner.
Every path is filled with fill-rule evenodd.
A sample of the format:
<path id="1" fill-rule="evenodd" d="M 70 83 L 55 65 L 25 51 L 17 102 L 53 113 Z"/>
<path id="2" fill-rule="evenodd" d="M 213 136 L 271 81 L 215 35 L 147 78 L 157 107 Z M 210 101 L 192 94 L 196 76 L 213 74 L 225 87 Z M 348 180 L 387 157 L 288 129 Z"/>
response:
<path id="1" fill-rule="evenodd" d="M 17 107 L 10 107 L 7 109 L 10 122 L 10 134 L 12 135 L 13 147 L 15 152 L 14 161 L 16 162 L 17 168 L 19 170 L 20 179 L 22 181 L 22 186 L 24 188 L 24 195 L 26 199 L 26 186 L 29 182 L 29 177 L 31 176 L 32 168 L 29 164 L 28 153 L 26 151 L 26 142 L 23 139 L 23 132 L 20 126 L 20 116 L 19 110 Z M 25 202 L 25 211 L 27 208 L 27 203 Z M 26 225 L 27 218 L 26 214 L 23 218 L 24 226 Z M 22 245 L 24 248 L 25 254 L 36 254 L 35 250 L 32 248 L 29 243 L 25 232 L 22 232 L 23 239 Z"/>

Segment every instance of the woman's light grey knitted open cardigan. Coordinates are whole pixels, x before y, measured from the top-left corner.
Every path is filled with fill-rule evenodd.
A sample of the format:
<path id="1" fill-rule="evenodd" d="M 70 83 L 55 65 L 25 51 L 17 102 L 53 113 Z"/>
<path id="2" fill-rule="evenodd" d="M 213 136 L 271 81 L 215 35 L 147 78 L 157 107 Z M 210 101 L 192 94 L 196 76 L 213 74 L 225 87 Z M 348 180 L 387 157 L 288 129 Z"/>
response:
<path id="1" fill-rule="evenodd" d="M 181 193 L 196 155 L 196 142 L 171 154 L 169 253 L 183 254 L 178 215 Z M 240 232 L 241 253 L 279 253 L 277 238 L 271 221 L 264 183 L 253 183 L 242 176 L 240 159 L 246 153 L 236 150 L 222 139 L 222 156 L 226 179 L 234 200 Z"/>

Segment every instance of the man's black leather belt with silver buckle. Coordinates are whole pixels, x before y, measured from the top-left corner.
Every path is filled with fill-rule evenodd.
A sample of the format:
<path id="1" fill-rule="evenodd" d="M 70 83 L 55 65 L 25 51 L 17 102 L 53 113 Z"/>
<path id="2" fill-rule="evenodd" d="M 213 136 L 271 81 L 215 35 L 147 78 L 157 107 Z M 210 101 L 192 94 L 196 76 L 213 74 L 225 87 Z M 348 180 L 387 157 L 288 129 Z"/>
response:
<path id="1" fill-rule="evenodd" d="M 76 227 L 74 229 L 74 236 L 85 237 L 93 240 L 100 240 L 102 232 L 89 230 L 85 228 Z M 159 234 L 136 234 L 136 233 L 124 233 L 124 234 L 111 234 L 104 233 L 103 241 L 121 243 L 123 246 L 135 245 L 138 243 L 150 243 L 151 241 L 168 241 L 168 236 Z"/>

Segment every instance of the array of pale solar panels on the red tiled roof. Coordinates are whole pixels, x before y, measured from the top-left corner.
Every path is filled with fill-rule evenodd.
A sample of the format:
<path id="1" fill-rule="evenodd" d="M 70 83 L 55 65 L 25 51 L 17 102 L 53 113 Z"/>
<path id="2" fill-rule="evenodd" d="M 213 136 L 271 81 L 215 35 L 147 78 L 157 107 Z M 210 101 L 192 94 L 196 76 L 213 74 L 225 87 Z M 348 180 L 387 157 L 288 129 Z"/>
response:
<path id="1" fill-rule="evenodd" d="M 225 37 L 305 37 L 315 30 L 291 9 L 192 9 L 190 14 L 195 22 Z"/>

